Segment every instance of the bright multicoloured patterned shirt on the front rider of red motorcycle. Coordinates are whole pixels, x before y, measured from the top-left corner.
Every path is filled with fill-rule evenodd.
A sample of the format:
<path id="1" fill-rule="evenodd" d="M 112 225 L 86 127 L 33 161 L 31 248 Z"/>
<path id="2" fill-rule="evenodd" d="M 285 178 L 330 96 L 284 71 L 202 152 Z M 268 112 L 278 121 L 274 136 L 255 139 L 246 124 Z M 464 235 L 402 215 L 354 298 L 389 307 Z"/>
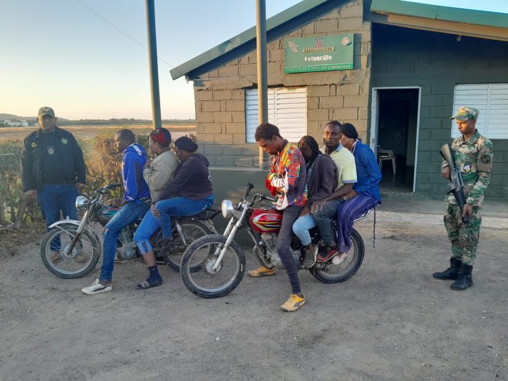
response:
<path id="1" fill-rule="evenodd" d="M 273 161 L 266 176 L 266 187 L 277 196 L 273 207 L 278 210 L 290 205 L 303 207 L 307 202 L 305 161 L 297 146 L 287 143 Z"/>

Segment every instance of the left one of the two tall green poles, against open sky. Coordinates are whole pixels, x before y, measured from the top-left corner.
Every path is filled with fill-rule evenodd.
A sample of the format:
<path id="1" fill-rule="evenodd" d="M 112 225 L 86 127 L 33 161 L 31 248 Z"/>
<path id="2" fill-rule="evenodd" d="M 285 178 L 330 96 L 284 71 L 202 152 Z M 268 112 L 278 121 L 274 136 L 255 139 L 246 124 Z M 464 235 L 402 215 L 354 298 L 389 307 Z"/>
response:
<path id="1" fill-rule="evenodd" d="M 150 63 L 150 90 L 152 95 L 152 126 L 161 128 L 161 97 L 159 95 L 159 66 L 157 65 L 157 38 L 155 34 L 154 0 L 146 0 L 146 37 L 148 39 L 148 61 Z"/>

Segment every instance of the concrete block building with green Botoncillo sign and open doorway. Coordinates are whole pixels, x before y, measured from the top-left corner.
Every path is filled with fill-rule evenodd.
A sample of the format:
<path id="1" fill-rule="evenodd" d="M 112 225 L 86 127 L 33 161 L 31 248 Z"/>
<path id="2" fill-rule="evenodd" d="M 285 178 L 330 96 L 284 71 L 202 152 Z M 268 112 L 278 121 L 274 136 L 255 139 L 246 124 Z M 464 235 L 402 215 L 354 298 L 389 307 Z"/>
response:
<path id="1" fill-rule="evenodd" d="M 321 142 L 327 121 L 350 122 L 374 152 L 393 152 L 382 192 L 439 197 L 446 186 L 439 148 L 458 136 L 450 116 L 474 106 L 478 130 L 494 142 L 487 200 L 508 202 L 507 14 L 400 0 L 305 0 L 266 25 L 269 121 L 283 137 Z M 239 194 L 249 180 L 259 190 L 264 183 L 253 139 L 255 48 L 252 27 L 171 71 L 194 82 L 200 150 L 214 182 L 228 185 L 219 196 Z M 295 66 L 297 51 L 305 63 Z"/>

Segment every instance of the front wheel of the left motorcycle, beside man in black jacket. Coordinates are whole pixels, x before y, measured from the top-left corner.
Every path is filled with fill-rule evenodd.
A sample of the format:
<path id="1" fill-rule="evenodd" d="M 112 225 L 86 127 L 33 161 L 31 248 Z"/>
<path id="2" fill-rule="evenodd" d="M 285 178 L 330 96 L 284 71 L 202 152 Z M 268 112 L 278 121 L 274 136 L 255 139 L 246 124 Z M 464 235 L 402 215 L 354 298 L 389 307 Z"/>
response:
<path id="1" fill-rule="evenodd" d="M 80 242 L 74 246 L 70 255 L 62 254 L 62 238 L 67 235 L 67 240 L 63 243 L 70 244 L 73 236 L 76 235 L 78 227 L 74 224 L 62 224 L 50 229 L 43 237 L 41 243 L 41 259 L 44 266 L 56 275 L 64 279 L 76 279 L 84 277 L 90 273 L 97 264 L 100 257 L 101 243 L 97 242 L 95 237 L 88 231 L 83 231 Z M 56 251 L 51 246 L 55 246 L 53 240 L 60 237 L 60 250 Z M 51 250 L 53 249 L 53 250 Z M 87 253 L 85 253 L 85 251 Z M 64 251 L 65 252 L 65 251 Z"/>

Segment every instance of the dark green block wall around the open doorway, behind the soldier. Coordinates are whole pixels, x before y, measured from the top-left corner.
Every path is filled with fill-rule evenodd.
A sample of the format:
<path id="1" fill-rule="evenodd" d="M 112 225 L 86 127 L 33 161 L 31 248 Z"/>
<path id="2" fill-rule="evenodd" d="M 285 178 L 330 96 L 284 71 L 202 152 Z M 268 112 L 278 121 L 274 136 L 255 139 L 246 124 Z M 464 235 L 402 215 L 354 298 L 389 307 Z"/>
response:
<path id="1" fill-rule="evenodd" d="M 439 148 L 451 141 L 455 84 L 508 82 L 508 44 L 373 25 L 372 85 L 422 86 L 417 193 L 443 194 Z M 485 196 L 508 202 L 508 139 L 493 140 L 494 170 Z"/>

